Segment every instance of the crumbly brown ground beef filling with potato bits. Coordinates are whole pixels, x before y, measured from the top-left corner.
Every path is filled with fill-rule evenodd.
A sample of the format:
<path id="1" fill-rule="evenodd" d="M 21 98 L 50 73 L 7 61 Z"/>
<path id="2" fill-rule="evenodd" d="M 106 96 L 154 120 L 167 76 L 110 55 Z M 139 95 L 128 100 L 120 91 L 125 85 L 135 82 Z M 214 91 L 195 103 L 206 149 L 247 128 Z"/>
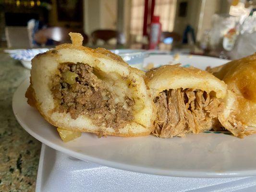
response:
<path id="1" fill-rule="evenodd" d="M 61 63 L 61 75 L 53 79 L 51 92 L 59 112 L 69 112 L 72 119 L 83 114 L 97 126 L 122 128 L 134 120 L 134 100 L 125 97 L 125 102 L 115 102 L 117 97 L 110 93 L 93 68 L 83 63 Z"/>

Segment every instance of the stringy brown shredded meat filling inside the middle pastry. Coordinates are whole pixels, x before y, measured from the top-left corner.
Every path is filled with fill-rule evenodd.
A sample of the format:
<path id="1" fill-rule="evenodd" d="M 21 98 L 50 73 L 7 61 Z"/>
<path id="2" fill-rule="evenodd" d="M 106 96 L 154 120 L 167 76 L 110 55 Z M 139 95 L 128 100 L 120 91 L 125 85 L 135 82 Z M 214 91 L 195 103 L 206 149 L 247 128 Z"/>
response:
<path id="1" fill-rule="evenodd" d="M 199 133 L 218 124 L 221 105 L 216 97 L 201 90 L 170 89 L 154 100 L 157 120 L 154 134 L 170 138 L 185 133 Z"/>

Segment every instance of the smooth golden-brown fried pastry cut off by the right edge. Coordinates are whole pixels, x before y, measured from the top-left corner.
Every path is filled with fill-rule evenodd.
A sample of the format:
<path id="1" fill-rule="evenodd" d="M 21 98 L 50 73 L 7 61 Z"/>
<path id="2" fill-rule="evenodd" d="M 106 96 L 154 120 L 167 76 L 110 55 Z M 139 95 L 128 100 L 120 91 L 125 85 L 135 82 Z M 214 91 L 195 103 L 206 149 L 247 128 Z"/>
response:
<path id="1" fill-rule="evenodd" d="M 237 120 L 256 127 L 256 53 L 228 62 L 213 74 L 223 80 L 235 94 L 238 103 Z"/>

